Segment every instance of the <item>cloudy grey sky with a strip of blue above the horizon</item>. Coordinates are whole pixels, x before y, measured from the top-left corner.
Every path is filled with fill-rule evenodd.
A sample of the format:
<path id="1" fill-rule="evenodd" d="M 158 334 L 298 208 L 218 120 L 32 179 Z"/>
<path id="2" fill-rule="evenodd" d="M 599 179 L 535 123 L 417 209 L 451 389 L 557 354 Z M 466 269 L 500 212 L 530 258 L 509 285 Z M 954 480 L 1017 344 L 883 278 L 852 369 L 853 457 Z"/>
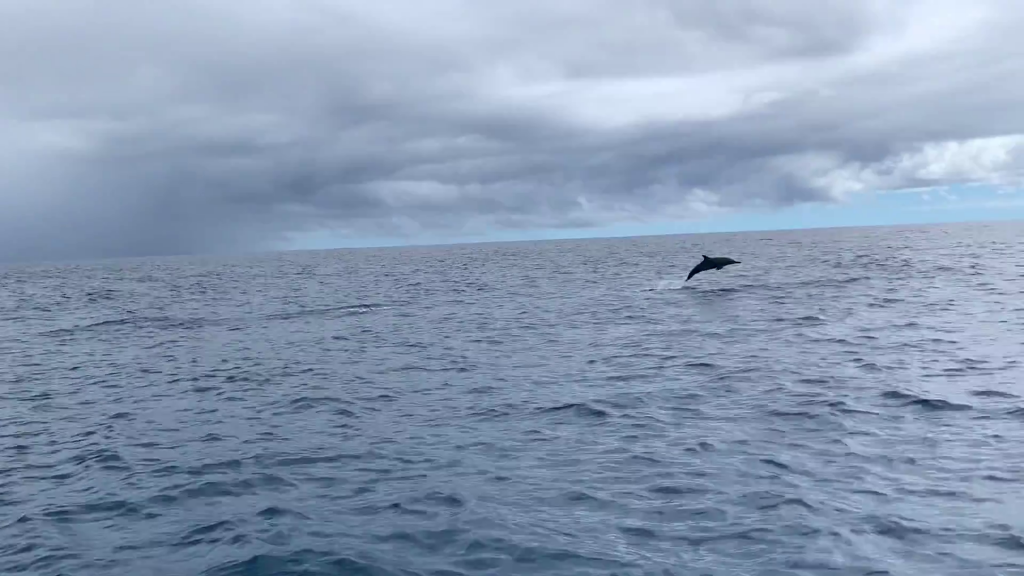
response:
<path id="1" fill-rule="evenodd" d="M 0 0 L 0 260 L 1024 217 L 1011 0 Z"/>

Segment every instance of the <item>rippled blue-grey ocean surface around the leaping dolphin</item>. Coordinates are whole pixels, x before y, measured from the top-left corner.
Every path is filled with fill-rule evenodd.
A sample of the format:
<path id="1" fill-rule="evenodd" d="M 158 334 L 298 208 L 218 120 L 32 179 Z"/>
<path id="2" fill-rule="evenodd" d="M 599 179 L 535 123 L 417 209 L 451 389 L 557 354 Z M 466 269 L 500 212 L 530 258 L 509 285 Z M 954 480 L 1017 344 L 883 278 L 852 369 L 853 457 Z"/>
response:
<path id="1" fill-rule="evenodd" d="M 0 269 L 0 574 L 1024 574 L 1024 224 Z M 701 254 L 742 263 L 683 282 Z"/>

